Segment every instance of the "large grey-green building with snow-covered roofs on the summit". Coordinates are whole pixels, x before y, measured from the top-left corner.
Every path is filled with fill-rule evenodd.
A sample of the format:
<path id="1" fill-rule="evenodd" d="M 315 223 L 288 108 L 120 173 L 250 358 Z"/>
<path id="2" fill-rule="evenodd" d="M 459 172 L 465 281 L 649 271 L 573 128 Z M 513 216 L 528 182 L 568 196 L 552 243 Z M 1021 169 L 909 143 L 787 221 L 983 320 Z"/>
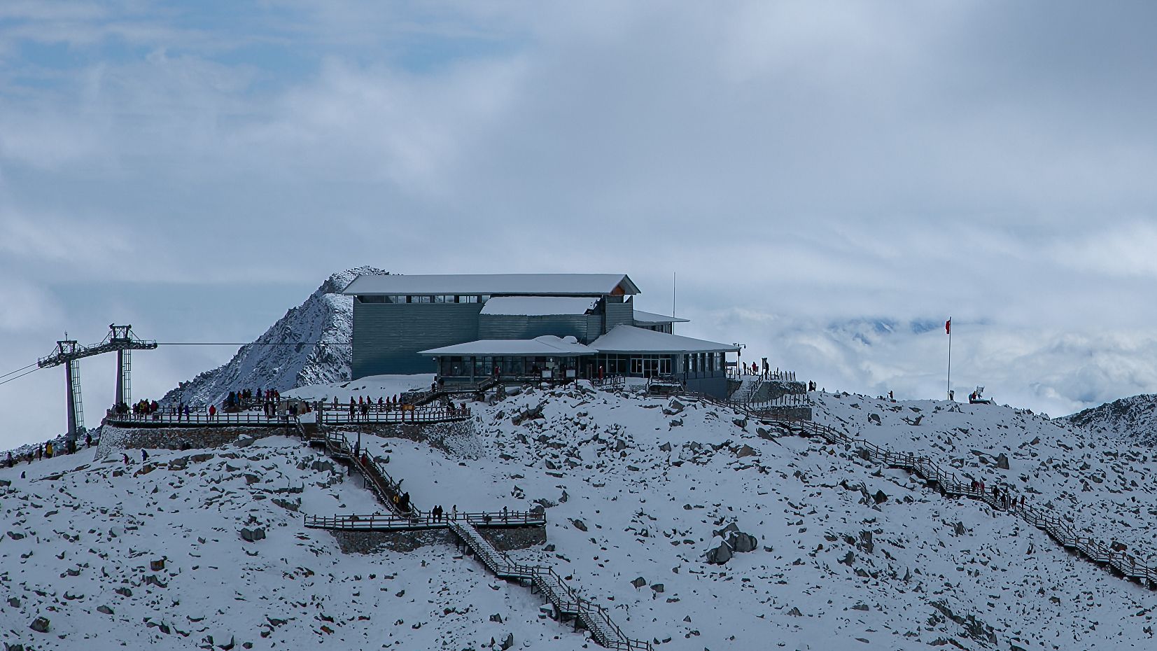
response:
<path id="1" fill-rule="evenodd" d="M 625 274 L 362 275 L 344 294 L 354 297 L 354 378 L 670 376 L 725 395 L 724 355 L 737 353 L 673 334 L 687 319 L 635 310 Z"/>

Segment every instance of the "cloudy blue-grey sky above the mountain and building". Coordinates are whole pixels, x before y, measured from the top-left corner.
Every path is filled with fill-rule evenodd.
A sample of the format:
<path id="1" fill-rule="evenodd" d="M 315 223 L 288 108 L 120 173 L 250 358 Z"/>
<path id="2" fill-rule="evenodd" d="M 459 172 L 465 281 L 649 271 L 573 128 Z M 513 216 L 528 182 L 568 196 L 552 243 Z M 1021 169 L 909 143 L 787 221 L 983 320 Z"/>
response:
<path id="1" fill-rule="evenodd" d="M 0 3 L 0 373 L 329 274 L 627 273 L 828 390 L 1157 392 L 1151 2 Z M 134 356 L 159 397 L 235 347 Z M 112 356 L 82 362 L 88 422 Z M 0 377 L 0 382 L 13 376 Z M 0 446 L 65 423 L 0 385 Z"/>

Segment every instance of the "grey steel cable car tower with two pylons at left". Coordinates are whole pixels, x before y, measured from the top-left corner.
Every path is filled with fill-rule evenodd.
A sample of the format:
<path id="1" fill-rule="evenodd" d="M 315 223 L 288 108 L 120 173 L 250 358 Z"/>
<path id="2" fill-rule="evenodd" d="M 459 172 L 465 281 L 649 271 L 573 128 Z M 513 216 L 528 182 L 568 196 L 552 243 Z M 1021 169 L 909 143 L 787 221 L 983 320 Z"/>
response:
<path id="1" fill-rule="evenodd" d="M 75 441 L 78 432 L 84 431 L 84 407 L 80 399 L 80 361 L 84 357 L 100 355 L 102 353 L 117 353 L 117 395 L 115 405 L 128 402 L 131 400 L 131 377 L 132 352 L 153 350 L 156 341 L 145 341 L 133 334 L 133 326 L 110 325 L 109 334 L 100 343 L 93 346 L 81 346 L 75 340 L 65 339 L 57 341 L 57 349 L 49 355 L 36 361 L 36 365 L 46 369 L 49 367 L 65 367 L 65 385 L 68 392 L 68 438 Z"/>

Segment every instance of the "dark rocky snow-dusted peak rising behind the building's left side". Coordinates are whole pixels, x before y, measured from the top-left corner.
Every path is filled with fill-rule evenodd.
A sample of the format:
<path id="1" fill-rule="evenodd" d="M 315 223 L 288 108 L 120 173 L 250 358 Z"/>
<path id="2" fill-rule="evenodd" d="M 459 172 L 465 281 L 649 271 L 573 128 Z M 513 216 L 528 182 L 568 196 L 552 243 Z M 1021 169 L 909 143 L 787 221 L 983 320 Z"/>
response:
<path id="1" fill-rule="evenodd" d="M 229 363 L 205 371 L 164 394 L 163 404 L 220 405 L 230 391 L 277 389 L 349 379 L 353 357 L 353 298 L 340 293 L 359 275 L 388 275 L 374 267 L 338 272 L 304 303 L 290 309 L 256 341 L 242 346 Z M 301 342 L 332 346 L 301 346 Z M 295 345 L 296 343 L 296 345 Z"/>

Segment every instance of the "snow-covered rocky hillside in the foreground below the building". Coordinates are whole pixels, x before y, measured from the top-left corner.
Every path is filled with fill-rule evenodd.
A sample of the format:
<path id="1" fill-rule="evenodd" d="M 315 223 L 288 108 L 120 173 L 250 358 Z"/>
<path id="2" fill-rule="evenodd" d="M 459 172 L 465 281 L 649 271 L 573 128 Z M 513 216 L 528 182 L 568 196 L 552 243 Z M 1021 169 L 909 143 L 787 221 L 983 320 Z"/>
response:
<path id="1" fill-rule="evenodd" d="M 543 401 L 543 419 L 513 424 L 513 415 Z M 362 443 L 390 457 L 390 472 L 423 509 L 547 505 L 548 545 L 511 556 L 572 576 L 629 635 L 659 641 L 657 649 L 1154 644 L 1157 592 L 1067 554 L 1012 517 L 944 500 L 904 472 L 818 441 L 762 438 L 758 423 L 737 423 L 714 406 L 665 407 L 653 398 L 535 389 L 476 405 L 477 439 L 451 446 L 466 453 L 376 436 Z M 1106 478 L 1075 502 L 1061 497 L 1079 490 L 1074 482 L 1083 464 L 1089 474 L 1132 461 L 1030 414 L 985 409 L 823 395 L 817 416 L 896 447 L 967 459 L 965 466 L 979 459 L 972 449 L 988 459 L 1005 451 L 1010 471 L 977 461 L 970 472 L 1047 490 L 1034 497 L 1071 504 L 1082 524 L 1147 535 L 1154 504 L 1147 491 L 1126 494 Z M 901 420 L 920 414 L 919 426 Z M 340 473 L 297 441 L 266 438 L 205 451 L 214 457 L 185 468 L 170 464 L 198 452 L 153 452 L 157 465 L 147 474 L 138 474 L 139 461 L 126 469 L 91 452 L 0 469 L 0 480 L 12 481 L 0 488 L 5 641 L 187 649 L 212 635 L 218 644 L 235 638 L 253 649 L 460 650 L 488 649 L 492 637 L 513 632 L 516 649 L 595 646 L 567 624 L 540 619 L 539 595 L 485 575 L 454 547 L 344 555 L 327 533 L 303 528 L 300 512 L 381 508 L 356 480 L 336 483 Z M 1148 463 L 1126 468 L 1127 476 L 1148 472 Z M 877 490 L 887 496 L 880 504 L 865 496 Z M 1129 497 L 1137 497 L 1137 512 L 1104 506 L 1099 521 L 1092 509 L 1132 504 Z M 300 512 L 274 498 L 290 508 L 300 498 Z M 732 521 L 759 547 L 725 565 L 706 564 L 714 531 Z M 264 526 L 268 537 L 244 542 L 243 526 Z M 163 556 L 165 570 L 150 571 L 148 562 Z M 150 575 L 168 585 L 146 583 Z M 639 577 L 644 583 L 636 587 Z M 37 614 L 51 619 L 50 634 L 29 630 Z M 491 621 L 493 614 L 503 621 Z"/>

